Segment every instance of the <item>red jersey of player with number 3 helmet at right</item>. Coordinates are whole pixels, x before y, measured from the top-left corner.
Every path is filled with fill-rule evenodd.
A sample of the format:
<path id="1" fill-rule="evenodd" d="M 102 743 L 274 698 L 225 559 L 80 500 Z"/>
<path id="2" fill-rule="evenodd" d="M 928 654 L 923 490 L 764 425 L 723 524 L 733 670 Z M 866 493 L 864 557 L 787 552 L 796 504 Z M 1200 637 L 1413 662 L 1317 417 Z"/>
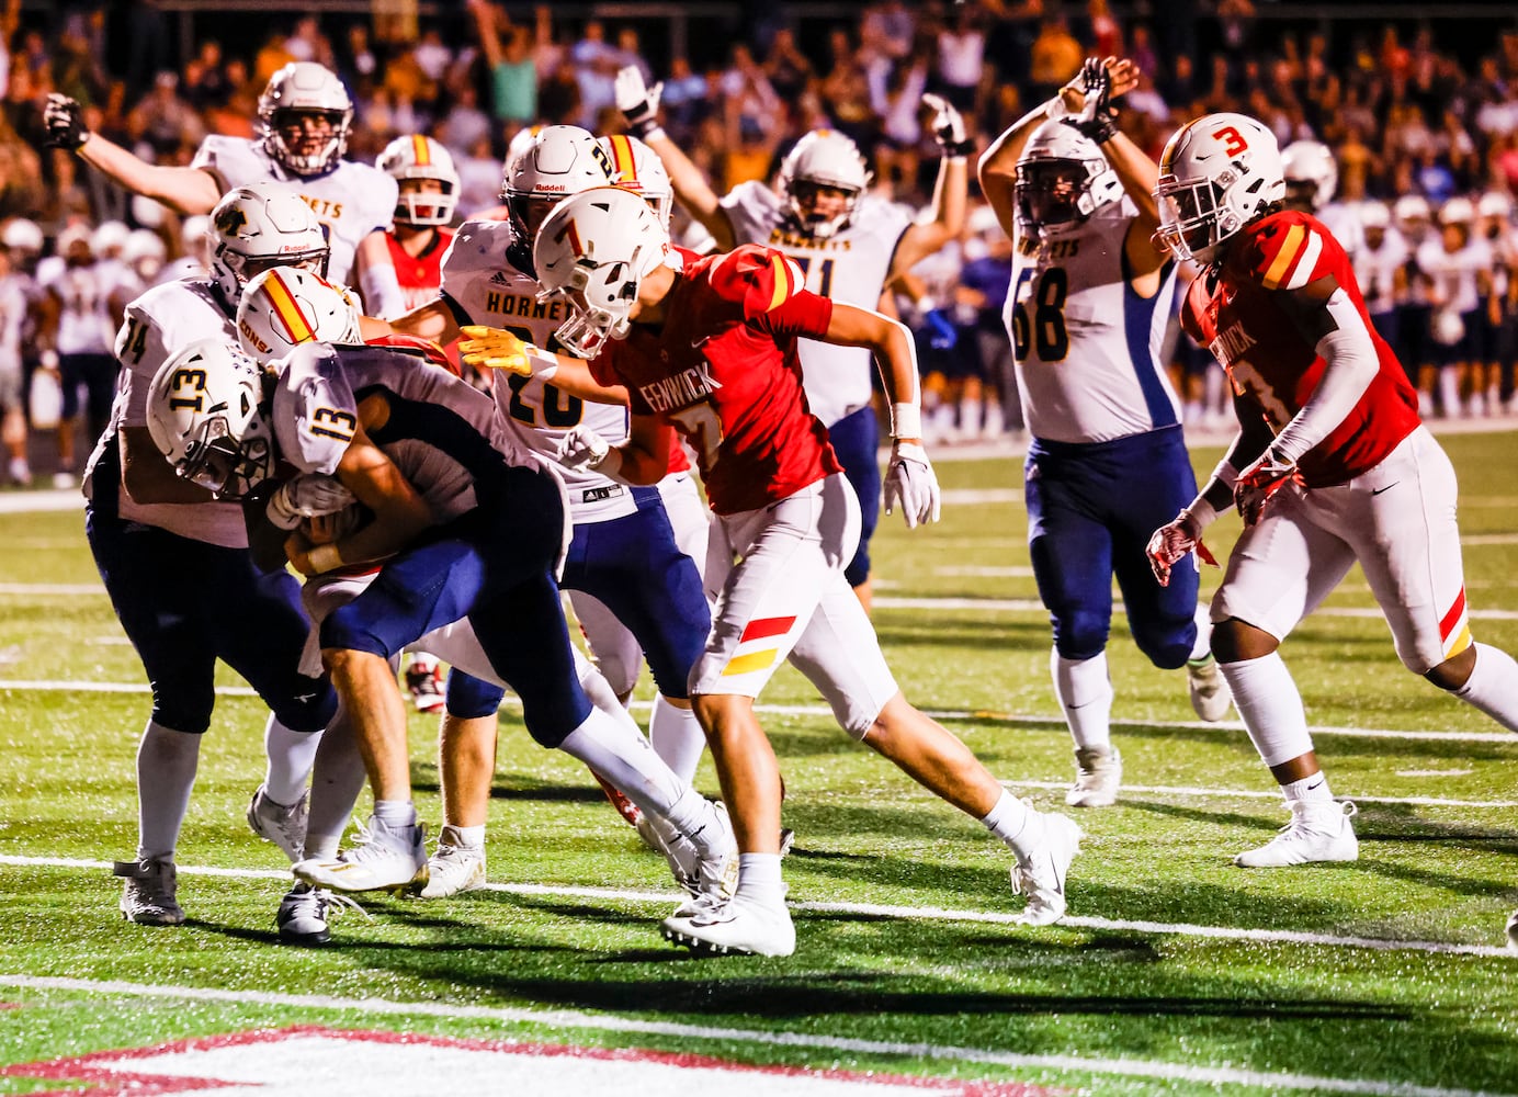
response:
<path id="1" fill-rule="evenodd" d="M 1380 369 L 1360 402 L 1298 461 L 1309 487 L 1342 484 L 1375 467 L 1418 426 L 1418 393 L 1365 308 L 1343 247 L 1313 217 L 1286 211 L 1240 231 L 1222 269 L 1192 282 L 1181 310 L 1187 334 L 1228 370 L 1234 390 L 1280 432 L 1322 379 L 1324 361 L 1277 293 L 1333 275 L 1371 332 Z"/>

